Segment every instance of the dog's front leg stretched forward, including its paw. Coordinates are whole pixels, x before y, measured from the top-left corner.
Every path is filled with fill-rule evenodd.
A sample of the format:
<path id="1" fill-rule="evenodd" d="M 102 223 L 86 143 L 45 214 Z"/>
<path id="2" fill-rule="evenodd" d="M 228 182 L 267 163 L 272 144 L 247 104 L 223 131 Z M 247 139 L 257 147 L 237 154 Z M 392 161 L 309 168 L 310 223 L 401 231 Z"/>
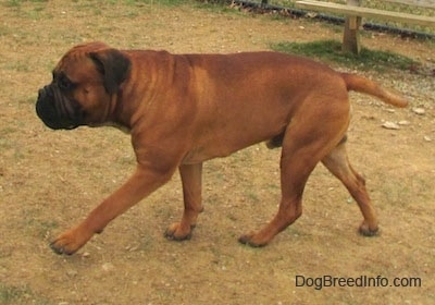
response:
<path id="1" fill-rule="evenodd" d="M 124 185 L 94 209 L 82 223 L 59 235 L 50 244 L 51 248 L 58 254 L 75 253 L 95 233 L 102 232 L 112 219 L 167 182 L 172 173 L 173 170 L 161 172 L 138 166 L 136 172 Z"/>

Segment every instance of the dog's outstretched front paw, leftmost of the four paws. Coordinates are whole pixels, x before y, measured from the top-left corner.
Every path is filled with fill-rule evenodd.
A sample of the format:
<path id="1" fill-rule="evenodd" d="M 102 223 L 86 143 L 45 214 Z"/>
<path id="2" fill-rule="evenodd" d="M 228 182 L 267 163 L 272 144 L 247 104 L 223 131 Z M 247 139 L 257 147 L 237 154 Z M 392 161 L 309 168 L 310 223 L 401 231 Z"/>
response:
<path id="1" fill-rule="evenodd" d="M 72 229 L 52 241 L 50 247 L 57 254 L 72 255 L 86 244 L 91 236 L 92 234 L 79 233 L 77 229 Z"/>

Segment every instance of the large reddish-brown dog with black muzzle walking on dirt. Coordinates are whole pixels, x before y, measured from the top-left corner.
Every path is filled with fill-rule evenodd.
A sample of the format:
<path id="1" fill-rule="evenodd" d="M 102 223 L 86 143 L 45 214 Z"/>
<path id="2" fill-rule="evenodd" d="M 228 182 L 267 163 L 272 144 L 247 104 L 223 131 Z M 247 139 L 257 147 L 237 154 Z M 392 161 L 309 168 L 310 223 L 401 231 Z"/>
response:
<path id="1" fill-rule="evenodd" d="M 275 218 L 239 241 L 268 244 L 302 212 L 302 192 L 319 161 L 349 190 L 364 217 L 363 235 L 377 231 L 364 180 L 349 164 L 348 91 L 397 107 L 399 95 L 364 77 L 338 73 L 308 59 L 276 52 L 170 54 L 77 46 L 39 90 L 36 111 L 51 129 L 114 125 L 132 134 L 133 176 L 77 227 L 51 244 L 73 254 L 115 217 L 170 180 L 183 181 L 184 213 L 165 235 L 190 237 L 201 205 L 202 162 L 266 141 L 282 146 L 282 199 Z"/>

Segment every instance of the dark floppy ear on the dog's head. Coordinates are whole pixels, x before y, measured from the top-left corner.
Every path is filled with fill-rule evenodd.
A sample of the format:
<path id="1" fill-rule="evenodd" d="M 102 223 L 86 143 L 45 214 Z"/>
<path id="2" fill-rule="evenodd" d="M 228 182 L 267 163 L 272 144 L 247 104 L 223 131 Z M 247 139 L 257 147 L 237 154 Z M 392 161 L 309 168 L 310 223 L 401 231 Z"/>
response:
<path id="1" fill-rule="evenodd" d="M 116 49 L 103 49 L 90 52 L 98 71 L 103 75 L 105 90 L 112 95 L 117 93 L 130 69 L 129 59 Z"/>

